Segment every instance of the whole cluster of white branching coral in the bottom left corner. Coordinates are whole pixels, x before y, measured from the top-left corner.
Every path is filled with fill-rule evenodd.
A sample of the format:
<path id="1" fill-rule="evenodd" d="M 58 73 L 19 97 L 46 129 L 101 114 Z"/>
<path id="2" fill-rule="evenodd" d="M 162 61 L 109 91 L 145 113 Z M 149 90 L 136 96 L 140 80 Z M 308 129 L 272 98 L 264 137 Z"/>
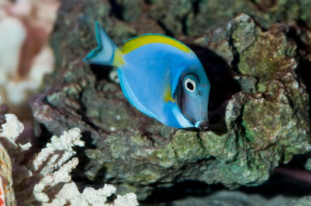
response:
<path id="1" fill-rule="evenodd" d="M 87 187 L 79 193 L 77 185 L 72 181 L 70 172 L 78 165 L 78 158 L 72 158 L 76 152 L 75 146 L 84 146 L 80 140 L 79 128 L 65 131 L 59 138 L 53 136 L 51 143 L 46 145 L 40 153 L 36 154 L 28 164 L 22 165 L 24 152 L 31 144 L 17 144 L 16 139 L 23 131 L 23 124 L 14 114 L 5 115 L 6 123 L 0 132 L 0 151 L 2 160 L 6 161 L 5 181 L 10 187 L 0 196 L 6 205 L 19 206 L 138 206 L 134 193 L 124 196 L 118 195 L 113 203 L 107 203 L 107 197 L 116 192 L 113 185 L 105 184 L 101 189 L 95 190 Z M 2 146 L 3 145 L 3 146 Z M 8 151 L 8 154 L 6 154 Z M 6 155 L 5 155 L 6 154 Z M 11 165 L 12 164 L 12 165 Z M 12 170 L 12 172 L 11 172 Z M 1 168 L 1 171 L 4 171 Z M 13 183 L 14 190 L 13 191 Z M 15 201 L 16 197 L 16 201 Z"/>

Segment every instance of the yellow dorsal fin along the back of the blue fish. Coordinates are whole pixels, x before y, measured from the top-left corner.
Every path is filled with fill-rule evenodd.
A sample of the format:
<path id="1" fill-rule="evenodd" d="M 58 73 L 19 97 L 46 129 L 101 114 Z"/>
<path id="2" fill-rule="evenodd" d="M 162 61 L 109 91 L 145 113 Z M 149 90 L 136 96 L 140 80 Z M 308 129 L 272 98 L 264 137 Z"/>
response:
<path id="1" fill-rule="evenodd" d="M 129 39 L 127 42 L 125 42 L 122 51 L 123 53 L 128 53 L 130 51 L 133 51 L 143 45 L 151 44 L 151 43 L 163 43 L 167 45 L 171 45 L 181 51 L 190 52 L 191 50 L 181 42 L 167 37 L 165 35 L 161 34 L 144 34 L 132 39 Z"/>

